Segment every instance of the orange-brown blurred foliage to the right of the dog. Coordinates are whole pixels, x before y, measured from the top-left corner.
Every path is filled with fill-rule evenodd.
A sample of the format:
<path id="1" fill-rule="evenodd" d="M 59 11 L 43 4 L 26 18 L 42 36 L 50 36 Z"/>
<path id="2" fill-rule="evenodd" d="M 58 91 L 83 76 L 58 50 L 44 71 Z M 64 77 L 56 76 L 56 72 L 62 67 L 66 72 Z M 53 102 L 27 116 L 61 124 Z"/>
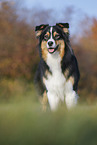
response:
<path id="1" fill-rule="evenodd" d="M 84 34 L 74 46 L 81 73 L 79 90 L 81 96 L 94 99 L 97 98 L 97 19 L 93 19 Z"/>

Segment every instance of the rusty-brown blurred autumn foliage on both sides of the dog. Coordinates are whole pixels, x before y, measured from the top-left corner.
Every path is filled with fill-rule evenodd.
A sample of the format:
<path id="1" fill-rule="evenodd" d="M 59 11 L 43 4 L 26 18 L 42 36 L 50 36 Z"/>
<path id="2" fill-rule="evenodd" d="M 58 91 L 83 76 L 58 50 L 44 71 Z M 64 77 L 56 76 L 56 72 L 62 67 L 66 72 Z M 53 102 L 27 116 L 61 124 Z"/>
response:
<path id="1" fill-rule="evenodd" d="M 81 74 L 79 94 L 82 98 L 92 100 L 97 96 L 97 19 L 93 18 L 91 21 L 91 26 L 88 30 L 83 30 L 84 33 L 76 43 L 75 37 L 71 37 L 71 44 Z M 31 24 L 25 17 L 20 17 L 14 5 L 8 2 L 1 3 L 0 78 L 25 78 L 33 81 L 39 60 L 35 23 L 37 19 Z"/>

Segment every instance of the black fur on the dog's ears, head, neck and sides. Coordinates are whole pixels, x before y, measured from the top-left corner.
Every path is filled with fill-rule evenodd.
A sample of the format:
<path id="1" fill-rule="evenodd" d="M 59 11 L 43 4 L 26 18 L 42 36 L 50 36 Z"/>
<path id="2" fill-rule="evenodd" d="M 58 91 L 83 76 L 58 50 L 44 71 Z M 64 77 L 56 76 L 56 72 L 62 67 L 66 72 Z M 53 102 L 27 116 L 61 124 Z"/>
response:
<path id="1" fill-rule="evenodd" d="M 37 68 L 37 71 L 36 71 L 36 75 L 35 75 L 35 84 L 37 85 L 38 90 L 39 90 L 41 95 L 46 90 L 46 87 L 43 83 L 43 77 L 45 76 L 45 72 L 46 72 L 46 70 L 48 70 L 50 73 L 52 73 L 49 69 L 49 66 L 46 64 L 46 62 L 42 58 L 42 53 L 41 53 L 41 48 L 40 48 L 41 42 L 42 42 L 43 37 L 44 37 L 44 34 L 49 29 L 49 27 L 50 26 L 47 24 L 47 25 L 37 26 L 36 29 L 35 29 L 35 31 L 42 30 L 42 33 L 39 37 L 40 62 L 39 62 L 39 65 L 38 65 L 38 68 Z M 80 78 L 78 63 L 77 63 L 76 57 L 74 55 L 74 52 L 73 52 L 73 50 L 70 46 L 69 33 L 64 33 L 63 30 L 62 30 L 63 27 L 69 28 L 69 24 L 68 23 L 59 23 L 59 24 L 56 24 L 55 26 L 53 26 L 53 28 L 56 29 L 58 33 L 60 33 L 61 38 L 65 42 L 65 48 L 64 48 L 65 49 L 65 54 L 64 54 L 63 59 L 61 61 L 61 69 L 62 69 L 63 74 L 67 69 L 69 70 L 69 74 L 66 78 L 67 80 L 70 76 L 74 77 L 73 89 L 77 92 L 77 90 L 78 90 L 78 81 L 79 81 L 79 78 Z"/>

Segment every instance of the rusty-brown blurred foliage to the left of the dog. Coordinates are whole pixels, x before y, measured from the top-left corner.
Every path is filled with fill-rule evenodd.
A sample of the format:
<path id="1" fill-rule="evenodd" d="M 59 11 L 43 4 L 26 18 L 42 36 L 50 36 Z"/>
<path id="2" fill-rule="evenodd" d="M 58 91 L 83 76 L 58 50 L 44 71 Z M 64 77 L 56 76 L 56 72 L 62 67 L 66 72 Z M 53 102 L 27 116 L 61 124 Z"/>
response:
<path id="1" fill-rule="evenodd" d="M 37 63 L 36 39 L 33 28 L 18 20 L 9 3 L 0 9 L 0 76 L 33 77 Z"/>

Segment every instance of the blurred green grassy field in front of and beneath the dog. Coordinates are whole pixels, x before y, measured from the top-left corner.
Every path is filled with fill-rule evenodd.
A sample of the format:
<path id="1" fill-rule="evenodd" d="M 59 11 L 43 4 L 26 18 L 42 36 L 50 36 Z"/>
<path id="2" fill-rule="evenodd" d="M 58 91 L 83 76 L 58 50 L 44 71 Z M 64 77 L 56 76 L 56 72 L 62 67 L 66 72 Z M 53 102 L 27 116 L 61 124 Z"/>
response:
<path id="1" fill-rule="evenodd" d="M 0 145 L 97 145 L 96 103 L 43 112 L 34 89 L 22 87 L 24 93 L 15 94 L 20 99 L 10 92 L 10 99 L 0 102 Z"/>

